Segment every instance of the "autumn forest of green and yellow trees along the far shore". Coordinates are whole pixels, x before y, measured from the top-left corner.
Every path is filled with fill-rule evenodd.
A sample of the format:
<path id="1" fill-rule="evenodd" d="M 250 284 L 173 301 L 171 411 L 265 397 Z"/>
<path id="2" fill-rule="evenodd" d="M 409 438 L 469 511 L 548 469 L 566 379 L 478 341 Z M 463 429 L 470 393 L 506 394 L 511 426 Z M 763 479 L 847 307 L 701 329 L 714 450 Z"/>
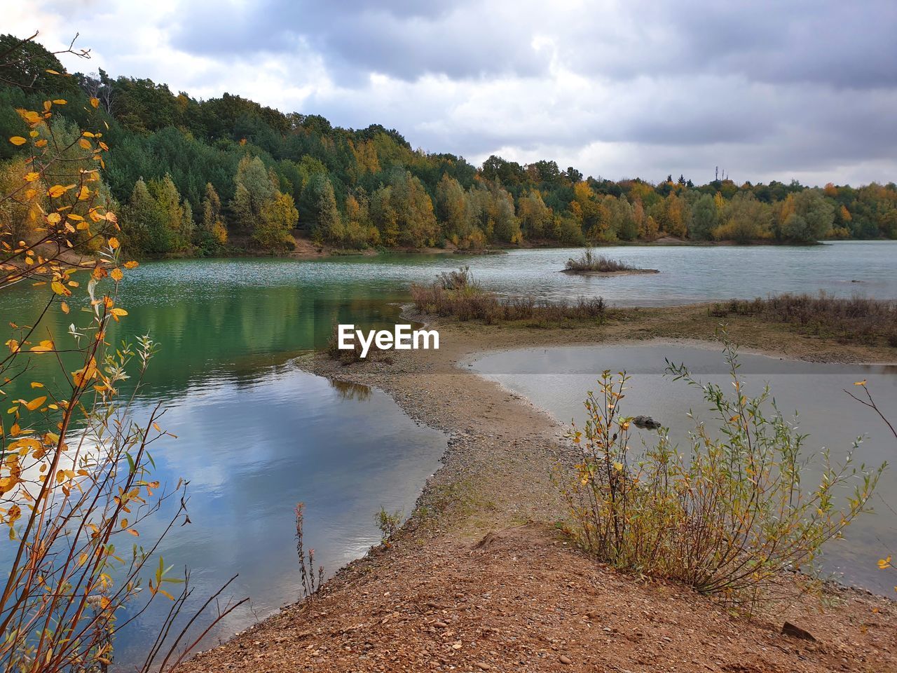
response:
<path id="1" fill-rule="evenodd" d="M 0 53 L 19 42 L 0 37 Z M 671 174 L 653 184 L 499 156 L 476 167 L 414 149 L 379 124 L 334 127 L 229 93 L 198 101 L 147 79 L 65 74 L 38 43 L 22 49 L 27 57 L 0 81 L 0 133 L 9 139 L 0 143 L 0 188 L 17 187 L 41 142 L 29 137 L 24 110 L 52 101 L 48 131 L 60 144 L 76 141 L 88 118 L 95 127 L 99 113 L 93 133 L 110 148 L 100 194 L 137 257 L 284 252 L 296 236 L 351 250 L 897 238 L 893 182 L 697 185 Z M 62 182 L 79 166 L 58 170 Z"/>

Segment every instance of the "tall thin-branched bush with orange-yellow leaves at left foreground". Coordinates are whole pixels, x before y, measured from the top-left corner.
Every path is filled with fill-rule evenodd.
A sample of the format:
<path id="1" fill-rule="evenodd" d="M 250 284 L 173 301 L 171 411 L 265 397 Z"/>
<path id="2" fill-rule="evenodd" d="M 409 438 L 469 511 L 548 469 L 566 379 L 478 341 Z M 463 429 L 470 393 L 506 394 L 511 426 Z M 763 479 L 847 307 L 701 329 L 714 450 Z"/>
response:
<path id="1" fill-rule="evenodd" d="M 35 359 L 59 367 L 54 380 L 31 381 L 28 398 L 9 399 L 0 390 L 0 525 L 12 546 L 0 581 L 4 671 L 105 670 L 116 634 L 152 599 L 171 599 L 173 619 L 188 595 L 185 580 L 170 577 L 155 554 L 160 539 L 138 544 L 141 524 L 164 501 L 180 503 L 168 529 L 184 520 L 186 494 L 182 483 L 166 489 L 151 476 L 147 451 L 166 434 L 160 409 L 142 421 L 132 413 L 156 345 L 149 337 L 118 349 L 107 343 L 110 322 L 127 316 L 120 282 L 137 265 L 121 256 L 117 218 L 102 187 L 109 151 L 102 130 L 57 124 L 54 111 L 66 104 L 56 99 L 18 110 L 27 137 L 8 142 L 30 152 L 0 179 L 0 293 L 31 284 L 46 295 L 37 320 L 13 322 L 0 380 L 4 389 L 21 390 Z M 90 101 L 93 109 L 98 104 Z M 50 331 L 54 311 L 72 313 L 64 334 Z M 127 379 L 130 393 L 120 395 Z M 184 587 L 178 599 L 166 590 L 171 583 Z M 133 601 L 140 605 L 123 613 Z M 165 636 L 167 624 L 160 627 Z M 179 665 L 190 641 L 183 631 L 171 636 L 174 644 L 165 649 L 161 638 L 144 669 Z"/>

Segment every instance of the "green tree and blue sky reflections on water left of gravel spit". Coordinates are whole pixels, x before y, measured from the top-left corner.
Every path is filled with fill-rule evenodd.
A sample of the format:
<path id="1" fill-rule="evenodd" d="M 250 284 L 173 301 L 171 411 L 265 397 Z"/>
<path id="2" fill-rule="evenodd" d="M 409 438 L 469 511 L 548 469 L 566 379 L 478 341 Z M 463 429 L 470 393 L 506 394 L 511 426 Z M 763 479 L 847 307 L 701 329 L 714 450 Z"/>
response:
<path id="1" fill-rule="evenodd" d="M 226 638 L 300 598 L 296 503 L 305 503 L 307 544 L 334 572 L 379 542 L 373 516 L 381 506 L 412 509 L 446 438 L 414 424 L 385 393 L 332 385 L 289 362 L 326 339 L 336 321 L 391 324 L 399 309 L 388 297 L 208 283 L 199 267 L 182 275 L 179 268 L 186 267 L 172 263 L 171 275 L 151 270 L 130 282 L 123 301 L 128 319 L 109 339 L 150 333 L 161 343 L 136 396 L 135 418 L 143 420 L 156 404 L 165 408 L 161 424 L 177 439 L 153 445 L 154 476 L 163 485 L 181 476 L 189 481 L 192 520 L 172 531 L 161 555 L 166 565 L 190 569 L 195 603 L 239 573 L 229 592 L 252 603 L 211 634 Z M 4 293 L 2 302 L 0 319 L 24 322 L 39 309 L 27 292 Z M 48 327 L 57 336 L 70 320 L 54 314 Z M 4 387 L 10 397 L 27 394 L 30 380 L 64 389 L 65 369 L 48 358 L 32 363 L 23 389 L 19 381 Z M 141 541 L 156 538 L 171 513 L 163 508 L 144 523 Z M 0 569 L 10 552 L 0 545 Z M 159 602 L 122 634 L 119 664 L 144 656 L 168 607 Z"/>

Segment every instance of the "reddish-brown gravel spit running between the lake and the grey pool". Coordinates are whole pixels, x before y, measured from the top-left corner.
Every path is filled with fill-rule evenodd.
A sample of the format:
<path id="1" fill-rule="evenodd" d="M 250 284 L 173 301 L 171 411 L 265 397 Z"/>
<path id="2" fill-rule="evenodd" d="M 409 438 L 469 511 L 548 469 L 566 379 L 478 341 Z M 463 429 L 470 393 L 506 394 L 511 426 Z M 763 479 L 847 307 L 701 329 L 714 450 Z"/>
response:
<path id="1" fill-rule="evenodd" d="M 344 366 L 300 366 L 383 389 L 408 415 L 449 435 L 443 467 L 390 546 L 328 581 L 313 604 L 285 608 L 194 671 L 884 671 L 897 670 L 897 613 L 887 600 L 831 588 L 747 619 L 662 581 L 614 572 L 553 529 L 563 515 L 550 474 L 569 458 L 561 428 L 475 375 L 475 354 L 508 347 L 708 343 L 707 307 L 627 310 L 602 326 L 501 328 L 436 323 L 439 351 L 394 352 Z M 840 345 L 787 326 L 728 320 L 745 348 L 815 362 L 891 362 L 893 349 Z M 461 365 L 461 366 L 459 366 Z M 314 544 L 314 541 L 309 541 Z M 785 620 L 815 641 L 782 635 Z"/>

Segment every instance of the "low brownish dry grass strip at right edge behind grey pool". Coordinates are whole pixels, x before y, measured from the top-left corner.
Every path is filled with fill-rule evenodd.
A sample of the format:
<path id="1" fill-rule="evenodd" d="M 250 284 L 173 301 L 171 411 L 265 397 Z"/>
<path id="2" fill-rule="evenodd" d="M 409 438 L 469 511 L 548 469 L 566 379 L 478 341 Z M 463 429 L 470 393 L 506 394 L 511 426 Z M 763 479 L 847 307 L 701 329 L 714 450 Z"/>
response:
<path id="1" fill-rule="evenodd" d="M 839 299 L 826 293 L 779 294 L 716 303 L 710 314 L 720 318 L 732 314 L 757 316 L 795 325 L 801 332 L 818 337 L 897 347 L 897 302 L 893 300 Z"/>

